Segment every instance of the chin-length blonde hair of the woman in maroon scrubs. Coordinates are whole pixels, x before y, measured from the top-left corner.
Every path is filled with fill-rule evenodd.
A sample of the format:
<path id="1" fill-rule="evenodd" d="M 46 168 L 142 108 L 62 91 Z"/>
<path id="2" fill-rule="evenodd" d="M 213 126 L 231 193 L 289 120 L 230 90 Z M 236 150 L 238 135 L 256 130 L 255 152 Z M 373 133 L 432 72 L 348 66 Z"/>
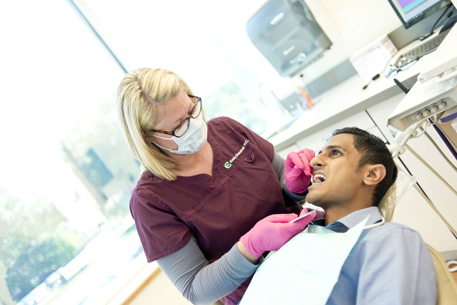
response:
<path id="1" fill-rule="evenodd" d="M 135 158 L 157 177 L 175 180 L 178 162 L 145 139 L 164 113 L 164 104 L 179 92 L 193 95 L 187 83 L 165 69 L 136 69 L 124 76 L 117 89 L 117 111 L 125 141 Z"/>

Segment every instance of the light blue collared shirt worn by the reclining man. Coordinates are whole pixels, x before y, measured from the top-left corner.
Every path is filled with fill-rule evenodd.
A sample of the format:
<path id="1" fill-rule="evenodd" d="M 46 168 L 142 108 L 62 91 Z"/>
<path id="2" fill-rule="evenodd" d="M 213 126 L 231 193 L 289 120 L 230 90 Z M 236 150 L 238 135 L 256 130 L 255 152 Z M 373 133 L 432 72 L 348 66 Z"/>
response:
<path id="1" fill-rule="evenodd" d="M 381 221 L 378 208 L 370 207 L 352 212 L 327 228 L 345 232 L 367 216 L 367 225 Z M 311 223 L 323 226 L 325 219 Z M 386 222 L 362 232 L 327 304 L 436 304 L 436 300 L 435 267 L 425 242 L 411 228 Z"/>

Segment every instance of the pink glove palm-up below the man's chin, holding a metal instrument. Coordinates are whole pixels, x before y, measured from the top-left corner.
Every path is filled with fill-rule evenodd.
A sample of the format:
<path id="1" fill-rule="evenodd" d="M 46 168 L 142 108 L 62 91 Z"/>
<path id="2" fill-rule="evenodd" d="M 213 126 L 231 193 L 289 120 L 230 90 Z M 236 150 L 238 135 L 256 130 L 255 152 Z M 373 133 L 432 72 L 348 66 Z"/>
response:
<path id="1" fill-rule="evenodd" d="M 304 208 L 300 215 L 307 212 L 308 210 Z M 296 214 L 270 215 L 259 220 L 249 232 L 241 236 L 240 240 L 244 248 L 258 259 L 265 251 L 276 251 L 284 246 L 284 243 L 303 231 L 315 217 L 316 213 L 313 213 L 301 220 L 289 223 L 297 218 Z"/>

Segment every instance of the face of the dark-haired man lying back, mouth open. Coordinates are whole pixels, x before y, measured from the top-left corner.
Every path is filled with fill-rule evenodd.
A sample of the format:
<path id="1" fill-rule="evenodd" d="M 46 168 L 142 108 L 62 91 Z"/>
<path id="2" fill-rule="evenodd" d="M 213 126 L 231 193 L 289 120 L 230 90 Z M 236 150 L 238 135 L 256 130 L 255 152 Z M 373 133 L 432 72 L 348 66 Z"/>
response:
<path id="1" fill-rule="evenodd" d="M 360 153 L 353 144 L 353 135 L 339 134 L 330 138 L 316 157 L 311 159 L 313 174 L 325 181 L 308 188 L 306 201 L 322 208 L 350 204 L 363 188 L 363 177 L 356 173 Z"/>

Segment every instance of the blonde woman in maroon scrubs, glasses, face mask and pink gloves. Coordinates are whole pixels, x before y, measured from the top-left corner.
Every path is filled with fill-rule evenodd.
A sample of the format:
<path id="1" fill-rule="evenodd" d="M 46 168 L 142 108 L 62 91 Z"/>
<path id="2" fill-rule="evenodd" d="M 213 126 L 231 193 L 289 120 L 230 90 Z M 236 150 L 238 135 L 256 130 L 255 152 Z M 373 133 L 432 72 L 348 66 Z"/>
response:
<path id="1" fill-rule="evenodd" d="M 314 153 L 293 153 L 284 166 L 271 143 L 237 121 L 207 123 L 201 98 L 168 70 L 128 73 L 117 103 L 124 137 L 145 168 L 130 212 L 148 262 L 192 303 L 237 304 L 262 254 L 316 216 L 289 223 L 307 212 L 298 203 L 310 178 L 302 162 L 309 169 Z"/>

